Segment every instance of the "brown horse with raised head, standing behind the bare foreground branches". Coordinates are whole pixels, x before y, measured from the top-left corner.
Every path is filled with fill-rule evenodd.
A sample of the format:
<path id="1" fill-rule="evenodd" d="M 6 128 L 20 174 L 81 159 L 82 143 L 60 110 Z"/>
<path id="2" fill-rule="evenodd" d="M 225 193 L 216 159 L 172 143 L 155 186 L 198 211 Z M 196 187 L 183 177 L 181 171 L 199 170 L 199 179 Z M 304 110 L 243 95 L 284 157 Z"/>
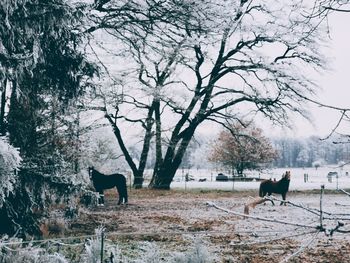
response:
<path id="1" fill-rule="evenodd" d="M 259 196 L 264 197 L 265 195 L 271 195 L 272 193 L 281 194 L 283 201 L 286 200 L 286 195 L 289 189 L 289 183 L 290 183 L 290 171 L 286 171 L 284 175 L 282 175 L 282 179 L 274 182 L 271 179 L 270 180 L 264 180 L 260 183 L 259 188 Z M 286 204 L 285 202 L 281 202 L 282 204 Z M 271 200 L 272 204 L 275 205 L 275 203 Z"/>

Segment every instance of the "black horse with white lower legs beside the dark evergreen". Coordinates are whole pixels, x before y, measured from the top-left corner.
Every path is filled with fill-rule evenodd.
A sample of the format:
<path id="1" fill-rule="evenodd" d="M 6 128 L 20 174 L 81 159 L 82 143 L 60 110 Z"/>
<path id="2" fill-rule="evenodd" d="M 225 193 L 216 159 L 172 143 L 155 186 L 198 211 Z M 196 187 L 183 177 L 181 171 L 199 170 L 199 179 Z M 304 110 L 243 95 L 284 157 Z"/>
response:
<path id="1" fill-rule="evenodd" d="M 99 205 L 104 205 L 104 195 L 103 190 L 111 189 L 117 187 L 119 200 L 118 205 L 128 203 L 128 190 L 126 187 L 126 178 L 122 174 L 110 174 L 105 175 L 95 170 L 94 167 L 89 167 L 89 176 L 96 189 L 96 192 L 99 192 Z"/>

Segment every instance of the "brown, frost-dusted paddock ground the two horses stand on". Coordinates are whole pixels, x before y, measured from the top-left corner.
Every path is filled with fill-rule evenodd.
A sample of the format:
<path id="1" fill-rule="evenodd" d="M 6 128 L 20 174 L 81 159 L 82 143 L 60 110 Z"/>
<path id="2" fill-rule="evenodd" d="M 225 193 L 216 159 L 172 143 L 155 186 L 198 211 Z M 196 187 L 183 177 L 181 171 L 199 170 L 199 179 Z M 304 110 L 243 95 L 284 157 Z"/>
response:
<path id="1" fill-rule="evenodd" d="M 105 207 L 81 208 L 71 221 L 66 236 L 93 234 L 104 226 L 109 239 L 116 242 L 151 241 L 167 251 L 185 251 L 193 240 L 203 240 L 217 262 L 280 262 L 301 246 L 307 248 L 288 262 L 350 262 L 349 234 L 326 236 L 315 229 L 277 224 L 229 214 L 207 205 L 207 201 L 243 213 L 244 204 L 255 192 L 221 191 L 130 191 L 130 204 L 117 206 L 114 192 L 106 194 Z M 292 192 L 288 200 L 308 208 L 319 208 L 318 193 Z M 348 196 L 326 194 L 323 208 L 327 213 L 341 212 L 350 218 Z M 319 217 L 298 207 L 258 205 L 250 215 L 304 225 L 317 226 Z M 344 229 L 350 229 L 345 222 Z M 333 228 L 337 220 L 324 220 Z M 312 240 L 312 241 L 310 241 Z"/>

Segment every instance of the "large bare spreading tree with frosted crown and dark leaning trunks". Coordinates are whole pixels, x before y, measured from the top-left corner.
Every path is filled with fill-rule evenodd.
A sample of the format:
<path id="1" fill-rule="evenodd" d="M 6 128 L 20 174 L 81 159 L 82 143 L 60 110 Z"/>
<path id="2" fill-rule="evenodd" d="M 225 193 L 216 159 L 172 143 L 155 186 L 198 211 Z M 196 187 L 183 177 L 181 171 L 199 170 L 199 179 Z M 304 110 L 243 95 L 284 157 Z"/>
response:
<path id="1" fill-rule="evenodd" d="M 316 88 L 310 76 L 323 64 L 318 53 L 323 31 L 320 20 L 305 17 L 310 6 L 302 1 L 156 2 L 140 1 L 140 6 L 163 6 L 162 16 L 150 16 L 159 9 L 147 5 L 142 17 L 147 13 L 148 18 L 133 17 L 137 26 L 128 24 L 124 36 L 118 34 L 125 50 L 115 60 L 123 62 L 122 100 L 106 116 L 133 171 L 137 169 L 123 139 L 134 127 L 130 123 L 145 128 L 144 147 L 155 135 L 150 186 L 169 189 L 203 123 L 262 115 L 286 125 L 289 112 L 304 115 L 304 103 Z M 170 16 L 165 7 L 178 13 Z M 116 28 L 110 28 L 116 35 Z M 111 104 L 107 106 L 110 112 Z M 125 122 L 129 125 L 123 126 Z"/>

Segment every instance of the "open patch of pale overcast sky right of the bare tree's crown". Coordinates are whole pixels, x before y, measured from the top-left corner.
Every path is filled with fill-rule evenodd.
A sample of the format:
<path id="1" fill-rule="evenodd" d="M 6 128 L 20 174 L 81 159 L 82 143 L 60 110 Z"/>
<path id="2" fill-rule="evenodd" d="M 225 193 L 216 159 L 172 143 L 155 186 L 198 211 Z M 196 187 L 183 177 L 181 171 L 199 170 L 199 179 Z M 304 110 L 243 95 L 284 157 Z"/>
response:
<path id="1" fill-rule="evenodd" d="M 350 13 L 336 13 L 329 18 L 330 48 L 326 50 L 331 58 L 329 65 L 332 70 L 323 74 L 319 79 L 321 90 L 318 100 L 324 104 L 350 108 Z M 325 136 L 337 124 L 340 114 L 329 109 L 311 107 L 314 124 L 305 120 L 295 120 L 293 130 L 273 128 L 272 135 L 289 136 Z M 350 125 L 341 129 L 350 134 Z"/>

